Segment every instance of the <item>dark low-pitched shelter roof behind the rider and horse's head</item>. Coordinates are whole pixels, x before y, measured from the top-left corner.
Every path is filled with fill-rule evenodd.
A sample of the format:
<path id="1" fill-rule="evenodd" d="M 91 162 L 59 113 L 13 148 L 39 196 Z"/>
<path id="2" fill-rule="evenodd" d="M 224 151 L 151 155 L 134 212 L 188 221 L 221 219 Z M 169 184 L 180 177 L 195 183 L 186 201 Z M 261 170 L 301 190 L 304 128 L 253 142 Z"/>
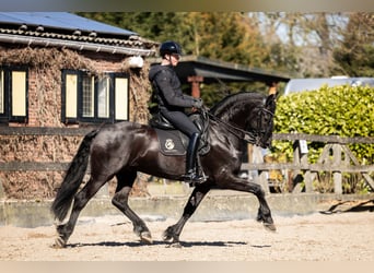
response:
<path id="1" fill-rule="evenodd" d="M 156 60 L 151 61 L 153 63 Z M 188 76 L 203 76 L 204 83 L 222 82 L 288 82 L 289 75 L 246 66 L 207 59 L 197 56 L 183 56 L 175 68 L 180 82 L 187 83 Z"/>

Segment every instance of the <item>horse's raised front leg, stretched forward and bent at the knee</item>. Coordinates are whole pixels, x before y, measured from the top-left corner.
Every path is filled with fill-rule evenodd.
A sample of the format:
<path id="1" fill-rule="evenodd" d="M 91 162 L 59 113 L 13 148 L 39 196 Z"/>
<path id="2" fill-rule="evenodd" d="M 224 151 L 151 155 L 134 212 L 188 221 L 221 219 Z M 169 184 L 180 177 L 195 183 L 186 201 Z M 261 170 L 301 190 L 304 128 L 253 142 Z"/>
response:
<path id="1" fill-rule="evenodd" d="M 273 224 L 273 219 L 271 217 L 270 207 L 265 199 L 265 191 L 262 190 L 260 185 L 248 182 L 247 180 L 241 179 L 235 176 L 230 176 L 225 179 L 220 179 L 218 185 L 224 189 L 250 192 L 255 194 L 259 202 L 259 209 L 256 219 L 258 222 L 262 222 L 266 229 L 271 232 L 277 230 L 276 225 Z"/>

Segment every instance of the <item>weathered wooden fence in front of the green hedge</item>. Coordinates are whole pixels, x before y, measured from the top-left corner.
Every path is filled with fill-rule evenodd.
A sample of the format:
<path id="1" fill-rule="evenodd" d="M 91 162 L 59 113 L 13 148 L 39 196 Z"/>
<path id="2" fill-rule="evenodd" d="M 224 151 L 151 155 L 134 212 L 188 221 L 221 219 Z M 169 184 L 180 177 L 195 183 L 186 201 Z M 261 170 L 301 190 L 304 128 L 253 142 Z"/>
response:
<path id="1" fill-rule="evenodd" d="M 311 134 L 274 134 L 274 140 L 293 142 L 293 163 L 264 163 L 261 150 L 253 149 L 250 163 L 242 165 L 243 170 L 256 174 L 253 179 L 262 186 L 266 192 L 270 192 L 273 187 L 269 181 L 269 171 L 281 170 L 285 174 L 292 171 L 292 192 L 313 192 L 313 181 L 322 171 L 332 174 L 334 192 L 342 193 L 342 174 L 360 173 L 366 185 L 374 190 L 374 181 L 370 176 L 374 171 L 374 165 L 360 165 L 353 153 L 347 146 L 353 143 L 373 144 L 374 138 L 340 138 Z M 306 141 L 326 143 L 318 161 L 309 164 L 307 161 Z M 303 182 L 303 187 L 302 187 Z"/>

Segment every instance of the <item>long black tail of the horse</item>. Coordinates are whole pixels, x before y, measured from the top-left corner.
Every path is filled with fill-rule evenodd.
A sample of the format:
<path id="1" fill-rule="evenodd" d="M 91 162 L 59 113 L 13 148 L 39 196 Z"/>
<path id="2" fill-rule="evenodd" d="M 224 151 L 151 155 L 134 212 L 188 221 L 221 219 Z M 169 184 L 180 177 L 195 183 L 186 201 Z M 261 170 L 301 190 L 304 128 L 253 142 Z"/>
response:
<path id="1" fill-rule="evenodd" d="M 79 186 L 82 183 L 89 165 L 91 143 L 98 131 L 98 129 L 93 130 L 84 136 L 74 158 L 70 163 L 61 187 L 57 191 L 50 211 L 55 215 L 55 218 L 60 222 L 67 216 L 74 194 L 78 191 Z"/>

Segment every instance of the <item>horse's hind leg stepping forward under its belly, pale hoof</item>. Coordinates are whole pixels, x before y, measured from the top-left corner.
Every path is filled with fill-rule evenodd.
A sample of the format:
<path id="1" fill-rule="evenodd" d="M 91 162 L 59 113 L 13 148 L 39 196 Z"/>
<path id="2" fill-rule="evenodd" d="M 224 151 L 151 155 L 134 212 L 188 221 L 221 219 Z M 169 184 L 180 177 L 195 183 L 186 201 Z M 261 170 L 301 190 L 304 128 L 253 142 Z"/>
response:
<path id="1" fill-rule="evenodd" d="M 133 232 L 147 244 L 152 244 L 152 236 L 145 223 L 130 209 L 129 194 L 137 178 L 137 171 L 117 174 L 117 189 L 112 203 L 121 211 L 133 225 Z"/>

